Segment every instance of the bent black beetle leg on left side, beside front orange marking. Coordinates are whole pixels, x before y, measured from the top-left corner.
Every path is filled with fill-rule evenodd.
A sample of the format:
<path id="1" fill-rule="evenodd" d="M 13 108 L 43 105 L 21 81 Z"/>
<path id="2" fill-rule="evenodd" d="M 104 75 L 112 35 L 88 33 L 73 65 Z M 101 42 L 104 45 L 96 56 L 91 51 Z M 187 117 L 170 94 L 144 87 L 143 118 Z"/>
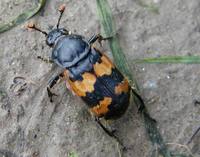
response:
<path id="1" fill-rule="evenodd" d="M 53 88 L 57 83 L 59 83 L 60 81 L 62 81 L 64 77 L 65 77 L 64 72 L 62 72 L 59 75 L 53 77 L 49 81 L 48 86 L 47 86 L 47 93 L 48 93 L 48 96 L 50 98 L 50 102 L 53 102 L 53 96 L 58 96 L 57 94 L 55 94 L 55 93 L 53 93 L 51 91 L 51 88 Z"/>

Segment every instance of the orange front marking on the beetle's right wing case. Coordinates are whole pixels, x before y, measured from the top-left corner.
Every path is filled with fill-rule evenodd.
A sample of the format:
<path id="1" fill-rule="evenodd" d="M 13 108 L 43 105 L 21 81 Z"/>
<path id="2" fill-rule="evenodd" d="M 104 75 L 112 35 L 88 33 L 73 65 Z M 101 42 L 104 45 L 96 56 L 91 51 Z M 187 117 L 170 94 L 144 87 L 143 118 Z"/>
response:
<path id="1" fill-rule="evenodd" d="M 94 71 L 97 76 L 103 76 L 103 75 L 110 75 L 112 73 L 112 68 L 114 67 L 111 60 L 103 55 L 101 57 L 101 63 L 95 63 L 94 64 Z"/>

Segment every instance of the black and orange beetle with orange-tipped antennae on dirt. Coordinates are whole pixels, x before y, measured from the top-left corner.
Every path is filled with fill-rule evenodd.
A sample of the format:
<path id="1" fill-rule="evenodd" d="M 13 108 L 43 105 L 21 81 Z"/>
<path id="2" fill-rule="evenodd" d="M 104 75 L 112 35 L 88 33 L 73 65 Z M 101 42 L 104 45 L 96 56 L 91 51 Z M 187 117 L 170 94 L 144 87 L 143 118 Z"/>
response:
<path id="1" fill-rule="evenodd" d="M 57 26 L 49 33 L 40 30 L 34 24 L 28 25 L 28 28 L 45 34 L 47 45 L 53 48 L 51 61 L 64 69 L 48 84 L 50 101 L 52 102 L 52 97 L 56 95 L 51 92 L 51 88 L 60 79 L 65 79 L 70 89 L 88 105 L 103 130 L 117 139 L 113 132 L 104 127 L 99 118 L 108 120 L 121 117 L 129 106 L 131 86 L 112 61 L 93 45 L 97 40 L 100 42 L 108 38 L 94 35 L 86 40 L 83 36 L 59 28 L 64 10 L 62 5 Z M 134 93 L 142 101 L 135 91 Z"/>

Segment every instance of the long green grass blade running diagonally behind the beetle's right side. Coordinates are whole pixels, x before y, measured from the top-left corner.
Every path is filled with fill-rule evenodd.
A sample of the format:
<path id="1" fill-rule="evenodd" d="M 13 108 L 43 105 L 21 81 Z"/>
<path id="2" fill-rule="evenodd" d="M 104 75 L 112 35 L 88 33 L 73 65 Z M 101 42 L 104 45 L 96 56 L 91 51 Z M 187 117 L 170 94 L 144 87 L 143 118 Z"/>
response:
<path id="1" fill-rule="evenodd" d="M 133 79 L 133 76 L 130 72 L 129 65 L 120 47 L 118 38 L 114 34 L 116 33 L 116 29 L 112 19 L 111 9 L 109 8 L 108 2 L 107 0 L 96 0 L 96 2 L 97 2 L 98 15 L 100 18 L 101 25 L 104 29 L 104 33 L 106 36 L 113 36 L 113 38 L 109 40 L 109 45 L 113 53 L 115 64 L 120 69 L 120 71 L 123 72 L 123 74 L 127 76 L 129 80 L 132 81 L 133 84 L 137 84 L 136 80 Z M 137 90 L 139 89 L 137 88 Z M 140 101 L 136 99 L 137 106 L 140 105 L 139 102 Z M 159 130 L 157 129 L 155 121 L 149 116 L 147 110 L 143 112 L 143 115 L 144 115 L 146 132 L 148 133 L 148 136 L 152 144 L 157 145 L 158 152 L 161 156 L 171 157 L 170 151 L 168 150 L 165 142 L 163 141 L 163 138 Z"/>

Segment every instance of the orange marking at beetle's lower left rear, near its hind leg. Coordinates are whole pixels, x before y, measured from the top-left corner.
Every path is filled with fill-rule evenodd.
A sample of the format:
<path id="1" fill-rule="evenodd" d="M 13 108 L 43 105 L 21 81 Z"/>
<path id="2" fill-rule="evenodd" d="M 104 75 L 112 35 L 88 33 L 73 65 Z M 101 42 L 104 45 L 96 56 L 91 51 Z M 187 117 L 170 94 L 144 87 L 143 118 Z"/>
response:
<path id="1" fill-rule="evenodd" d="M 104 97 L 104 99 L 100 101 L 97 106 L 91 108 L 90 111 L 94 113 L 96 116 L 105 115 L 109 111 L 108 106 L 111 104 L 111 102 L 112 98 Z"/>

